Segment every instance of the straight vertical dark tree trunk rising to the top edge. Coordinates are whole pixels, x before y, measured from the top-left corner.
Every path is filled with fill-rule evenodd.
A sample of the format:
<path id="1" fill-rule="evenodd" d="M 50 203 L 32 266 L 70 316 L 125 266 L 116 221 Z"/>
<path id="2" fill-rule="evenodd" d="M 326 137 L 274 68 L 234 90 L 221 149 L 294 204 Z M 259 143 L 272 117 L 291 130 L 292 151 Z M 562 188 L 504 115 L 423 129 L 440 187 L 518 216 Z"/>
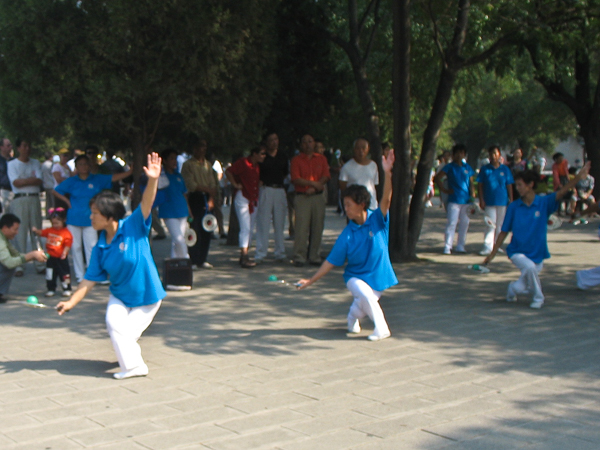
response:
<path id="1" fill-rule="evenodd" d="M 390 207 L 390 258 L 406 261 L 408 219 L 412 177 L 410 173 L 410 0 L 392 2 L 394 23 L 394 64 L 392 69 L 392 98 L 394 107 L 394 179 Z M 380 172 L 382 173 L 382 172 Z"/>

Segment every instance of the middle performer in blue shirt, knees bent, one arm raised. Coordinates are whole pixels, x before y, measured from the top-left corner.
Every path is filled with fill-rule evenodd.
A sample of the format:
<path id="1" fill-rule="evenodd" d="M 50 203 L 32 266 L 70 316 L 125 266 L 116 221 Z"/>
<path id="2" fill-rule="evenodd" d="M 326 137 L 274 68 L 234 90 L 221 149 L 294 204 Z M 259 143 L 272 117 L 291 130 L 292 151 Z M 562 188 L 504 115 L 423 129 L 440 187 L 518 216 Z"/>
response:
<path id="1" fill-rule="evenodd" d="M 371 194 L 364 186 L 353 185 L 342 194 L 348 225 L 337 238 L 331 253 L 319 270 L 308 280 L 298 281 L 304 289 L 327 274 L 335 266 L 343 266 L 344 281 L 354 297 L 348 312 L 348 331 L 360 332 L 360 319 L 368 316 L 375 325 L 368 339 L 379 341 L 391 336 L 379 305 L 384 290 L 398 284 L 388 250 L 390 221 L 388 211 L 392 199 L 392 167 L 394 151 L 382 157 L 383 194 L 379 208 L 370 210 Z"/>

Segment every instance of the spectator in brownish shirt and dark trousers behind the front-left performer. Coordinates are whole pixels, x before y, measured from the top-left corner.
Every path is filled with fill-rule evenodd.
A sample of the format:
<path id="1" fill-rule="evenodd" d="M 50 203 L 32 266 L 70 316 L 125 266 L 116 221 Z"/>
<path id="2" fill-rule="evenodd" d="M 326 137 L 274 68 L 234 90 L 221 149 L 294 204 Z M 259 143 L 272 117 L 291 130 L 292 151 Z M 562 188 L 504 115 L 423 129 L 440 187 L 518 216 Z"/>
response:
<path id="1" fill-rule="evenodd" d="M 202 218 L 214 207 L 219 186 L 212 164 L 206 159 L 207 149 L 208 144 L 204 139 L 192 144 L 193 157 L 183 163 L 181 176 L 188 190 L 188 203 L 193 217 L 191 227 L 198 236 L 196 244 L 188 249 L 188 253 L 195 268 L 212 269 L 212 264 L 206 261 L 212 233 L 202 227 Z"/>

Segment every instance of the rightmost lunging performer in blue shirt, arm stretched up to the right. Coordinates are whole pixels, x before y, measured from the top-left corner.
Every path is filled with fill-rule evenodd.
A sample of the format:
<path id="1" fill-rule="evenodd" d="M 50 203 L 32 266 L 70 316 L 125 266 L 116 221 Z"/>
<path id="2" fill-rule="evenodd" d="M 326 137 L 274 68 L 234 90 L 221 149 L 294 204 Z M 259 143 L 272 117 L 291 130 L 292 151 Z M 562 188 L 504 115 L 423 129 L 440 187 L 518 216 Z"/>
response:
<path id="1" fill-rule="evenodd" d="M 539 181 L 539 175 L 536 172 L 525 170 L 515 175 L 515 188 L 520 198 L 508 205 L 502 231 L 498 235 L 492 252 L 483 261 L 483 264 L 489 264 L 504 243 L 508 233 L 512 232 L 512 239 L 506 247 L 506 254 L 521 271 L 521 276 L 517 281 L 509 283 L 506 294 L 507 301 L 515 302 L 517 295 L 532 294 L 533 301 L 529 306 L 539 309 L 544 304 L 539 275 L 544 267 L 544 259 L 550 258 L 547 239 L 548 217 L 558 209 L 560 199 L 579 180 L 585 178 L 589 170 L 590 162 L 586 163 L 567 184 L 544 196 L 535 194 L 535 188 Z"/>

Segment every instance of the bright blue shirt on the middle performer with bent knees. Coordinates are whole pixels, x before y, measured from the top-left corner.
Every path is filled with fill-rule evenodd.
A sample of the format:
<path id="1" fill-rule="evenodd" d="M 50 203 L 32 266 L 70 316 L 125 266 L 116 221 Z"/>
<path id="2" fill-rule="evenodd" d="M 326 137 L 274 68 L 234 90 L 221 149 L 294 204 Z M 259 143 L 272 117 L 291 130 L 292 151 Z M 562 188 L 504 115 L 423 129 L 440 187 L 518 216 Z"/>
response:
<path id="1" fill-rule="evenodd" d="M 383 217 L 380 208 L 368 210 L 364 224 L 350 221 L 346 225 L 327 261 L 334 266 L 343 266 L 348 260 L 344 271 L 346 283 L 356 277 L 376 291 L 398 284 L 388 250 L 389 228 L 389 215 Z"/>

